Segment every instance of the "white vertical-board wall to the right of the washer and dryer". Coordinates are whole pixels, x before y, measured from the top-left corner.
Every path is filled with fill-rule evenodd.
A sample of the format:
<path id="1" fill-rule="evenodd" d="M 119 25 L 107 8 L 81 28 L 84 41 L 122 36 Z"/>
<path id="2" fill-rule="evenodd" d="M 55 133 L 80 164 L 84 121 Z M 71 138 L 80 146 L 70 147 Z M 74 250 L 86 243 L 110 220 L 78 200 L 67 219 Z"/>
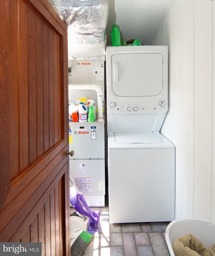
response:
<path id="1" fill-rule="evenodd" d="M 215 223 L 215 1 L 173 0 L 152 45 L 169 47 L 169 112 L 175 145 L 176 218 Z"/>

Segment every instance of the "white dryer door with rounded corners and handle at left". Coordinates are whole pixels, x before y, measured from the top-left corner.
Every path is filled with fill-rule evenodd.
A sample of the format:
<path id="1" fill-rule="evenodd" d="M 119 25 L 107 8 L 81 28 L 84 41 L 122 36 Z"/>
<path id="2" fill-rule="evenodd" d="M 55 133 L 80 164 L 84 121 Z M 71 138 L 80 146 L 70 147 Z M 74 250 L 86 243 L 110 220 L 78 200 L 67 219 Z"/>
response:
<path id="1" fill-rule="evenodd" d="M 117 96 L 159 95 L 163 90 L 163 54 L 113 54 L 112 90 Z"/>

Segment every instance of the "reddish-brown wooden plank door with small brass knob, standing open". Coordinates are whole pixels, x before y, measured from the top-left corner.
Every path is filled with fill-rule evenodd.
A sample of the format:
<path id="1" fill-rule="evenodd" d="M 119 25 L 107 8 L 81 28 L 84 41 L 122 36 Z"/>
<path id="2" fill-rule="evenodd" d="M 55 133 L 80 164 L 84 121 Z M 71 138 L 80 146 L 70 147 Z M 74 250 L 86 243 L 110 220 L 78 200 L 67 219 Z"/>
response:
<path id="1" fill-rule="evenodd" d="M 67 256 L 67 26 L 47 0 L 2 1 L 0 24 L 0 242 Z"/>

